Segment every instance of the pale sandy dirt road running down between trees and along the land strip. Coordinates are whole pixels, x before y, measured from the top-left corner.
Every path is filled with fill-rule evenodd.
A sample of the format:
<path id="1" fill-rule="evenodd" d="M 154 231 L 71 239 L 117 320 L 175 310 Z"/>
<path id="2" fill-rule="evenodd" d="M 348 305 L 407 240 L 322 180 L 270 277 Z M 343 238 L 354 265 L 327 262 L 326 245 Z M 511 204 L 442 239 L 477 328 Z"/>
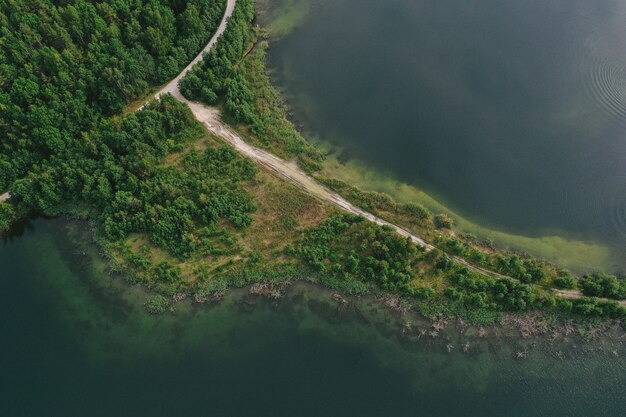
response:
<path id="1" fill-rule="evenodd" d="M 252 159 L 259 165 L 273 172 L 278 177 L 296 185 L 303 192 L 315 198 L 318 198 L 322 201 L 331 203 L 348 213 L 362 216 L 381 226 L 389 226 L 393 228 L 401 236 L 411 239 L 413 243 L 415 243 L 418 246 L 423 247 L 424 249 L 428 251 L 435 249 L 435 246 L 426 242 L 424 239 L 415 235 L 409 230 L 403 228 L 402 226 L 392 224 L 350 203 L 348 200 L 346 200 L 339 194 L 331 191 L 330 189 L 328 189 L 327 187 L 319 183 L 317 180 L 315 180 L 313 177 L 311 177 L 310 175 L 302 171 L 295 162 L 285 161 L 271 154 L 270 152 L 267 152 L 263 149 L 259 149 L 248 144 L 237 133 L 235 133 L 224 122 L 222 122 L 221 117 L 220 117 L 220 111 L 217 108 L 210 108 L 203 104 L 189 101 L 185 97 L 183 97 L 178 87 L 178 83 L 180 82 L 180 80 L 182 80 L 185 77 L 185 75 L 187 75 L 187 73 L 191 70 L 191 68 L 195 64 L 202 61 L 204 54 L 209 52 L 213 48 L 213 46 L 217 43 L 217 40 L 219 39 L 219 37 L 226 30 L 228 19 L 230 18 L 230 16 L 232 15 L 235 9 L 235 4 L 236 4 L 236 0 L 227 0 L 224 17 L 222 18 L 222 21 L 217 31 L 215 32 L 215 34 L 213 35 L 209 43 L 204 47 L 204 49 L 200 52 L 200 54 L 198 54 L 198 56 L 187 67 L 185 67 L 185 69 L 176 78 L 170 81 L 165 87 L 163 87 L 161 90 L 159 90 L 155 94 L 155 98 L 159 98 L 161 95 L 167 94 L 167 93 L 172 94 L 181 102 L 186 103 L 191 109 L 194 116 L 200 122 L 202 122 L 210 132 L 223 138 L 226 142 L 228 142 L 231 146 L 233 146 L 235 150 L 237 150 L 243 156 Z M 470 263 L 469 261 L 463 258 L 460 258 L 458 256 L 452 256 L 452 258 L 459 264 L 464 265 L 467 268 L 475 272 L 478 272 L 482 275 L 487 275 L 487 276 L 492 276 L 492 277 L 497 277 L 497 278 L 507 277 L 497 272 L 490 271 L 488 269 L 476 266 Z M 580 293 L 579 291 L 575 291 L 575 290 L 557 291 L 557 294 L 559 294 L 563 298 L 569 298 L 569 299 L 578 299 L 578 298 L 583 297 L 582 293 Z M 626 300 L 620 301 L 620 304 L 623 306 L 626 306 Z"/>

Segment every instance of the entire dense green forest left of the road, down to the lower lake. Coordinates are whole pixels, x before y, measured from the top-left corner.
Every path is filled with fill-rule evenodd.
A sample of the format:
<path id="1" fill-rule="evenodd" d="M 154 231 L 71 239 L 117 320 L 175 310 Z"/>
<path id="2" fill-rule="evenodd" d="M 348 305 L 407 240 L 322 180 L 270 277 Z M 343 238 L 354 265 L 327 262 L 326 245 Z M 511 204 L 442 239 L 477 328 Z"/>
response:
<path id="1" fill-rule="evenodd" d="M 232 149 L 164 157 L 205 135 L 164 97 L 122 115 L 204 46 L 222 0 L 7 1 L 0 20 L 0 229 L 32 212 L 98 220 L 107 239 L 145 233 L 184 259 L 210 246 L 225 219 L 252 221 L 239 183 L 255 167 Z"/>

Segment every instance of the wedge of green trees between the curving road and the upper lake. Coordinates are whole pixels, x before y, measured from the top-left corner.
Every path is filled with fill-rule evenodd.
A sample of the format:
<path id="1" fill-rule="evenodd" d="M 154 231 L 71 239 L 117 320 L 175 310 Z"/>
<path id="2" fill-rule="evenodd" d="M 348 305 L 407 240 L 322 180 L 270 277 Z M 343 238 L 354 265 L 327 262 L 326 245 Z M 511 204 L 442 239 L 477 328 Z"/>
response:
<path id="1" fill-rule="evenodd" d="M 297 157 L 307 171 L 320 169 L 322 155 L 287 120 L 284 103 L 265 71 L 267 43 L 256 42 L 254 1 L 239 0 L 228 27 L 200 65 L 181 81 L 183 95 L 220 104 L 227 119 L 246 125 L 259 146 Z"/>

